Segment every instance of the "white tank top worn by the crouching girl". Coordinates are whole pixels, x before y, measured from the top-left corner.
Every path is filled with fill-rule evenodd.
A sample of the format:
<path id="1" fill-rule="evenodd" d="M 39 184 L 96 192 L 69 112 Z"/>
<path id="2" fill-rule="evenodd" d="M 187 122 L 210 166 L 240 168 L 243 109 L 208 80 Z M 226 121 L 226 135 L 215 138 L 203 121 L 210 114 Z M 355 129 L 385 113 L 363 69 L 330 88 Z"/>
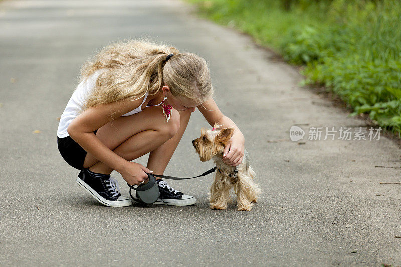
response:
<path id="1" fill-rule="evenodd" d="M 85 100 L 86 94 L 95 87 L 95 83 L 97 78 L 99 77 L 100 73 L 103 70 L 97 70 L 94 74 L 92 74 L 87 80 L 81 81 L 77 88 L 75 89 L 74 93 L 72 94 L 70 100 L 67 103 L 66 108 L 64 109 L 63 114 L 60 117 L 59 127 L 57 129 L 57 136 L 59 138 L 64 138 L 68 136 L 67 127 L 70 125 L 72 120 L 74 120 L 78 115 L 79 111 L 82 109 L 83 102 Z M 146 92 L 145 97 L 142 101 L 142 104 L 139 105 L 136 109 L 123 114 L 122 116 L 129 116 L 138 112 L 141 112 L 141 107 L 147 98 L 148 93 Z M 162 102 L 161 102 L 162 103 Z M 158 106 L 161 103 L 153 106 Z M 152 107 L 152 106 L 146 106 Z"/>

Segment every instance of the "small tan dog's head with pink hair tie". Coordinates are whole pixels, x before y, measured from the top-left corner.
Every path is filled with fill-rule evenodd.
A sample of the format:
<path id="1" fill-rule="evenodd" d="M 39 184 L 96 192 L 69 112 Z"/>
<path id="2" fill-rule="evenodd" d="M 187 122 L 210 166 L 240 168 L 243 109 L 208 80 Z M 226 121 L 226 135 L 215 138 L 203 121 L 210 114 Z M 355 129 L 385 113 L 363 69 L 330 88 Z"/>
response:
<path id="1" fill-rule="evenodd" d="M 192 144 L 199 154 L 200 161 L 208 161 L 214 155 L 222 154 L 234 133 L 234 128 L 220 128 L 215 123 L 211 130 L 200 129 L 200 137 L 192 140 Z"/>

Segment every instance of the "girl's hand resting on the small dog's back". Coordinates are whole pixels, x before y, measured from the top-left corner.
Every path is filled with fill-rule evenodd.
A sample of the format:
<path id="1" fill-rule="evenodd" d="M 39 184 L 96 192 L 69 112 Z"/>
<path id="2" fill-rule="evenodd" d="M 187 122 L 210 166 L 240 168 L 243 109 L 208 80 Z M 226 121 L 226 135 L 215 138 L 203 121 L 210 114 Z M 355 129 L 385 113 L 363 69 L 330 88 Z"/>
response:
<path id="1" fill-rule="evenodd" d="M 245 151 L 245 138 L 239 131 L 235 130 L 231 136 L 229 143 L 223 151 L 223 162 L 235 167 L 242 162 Z"/>

